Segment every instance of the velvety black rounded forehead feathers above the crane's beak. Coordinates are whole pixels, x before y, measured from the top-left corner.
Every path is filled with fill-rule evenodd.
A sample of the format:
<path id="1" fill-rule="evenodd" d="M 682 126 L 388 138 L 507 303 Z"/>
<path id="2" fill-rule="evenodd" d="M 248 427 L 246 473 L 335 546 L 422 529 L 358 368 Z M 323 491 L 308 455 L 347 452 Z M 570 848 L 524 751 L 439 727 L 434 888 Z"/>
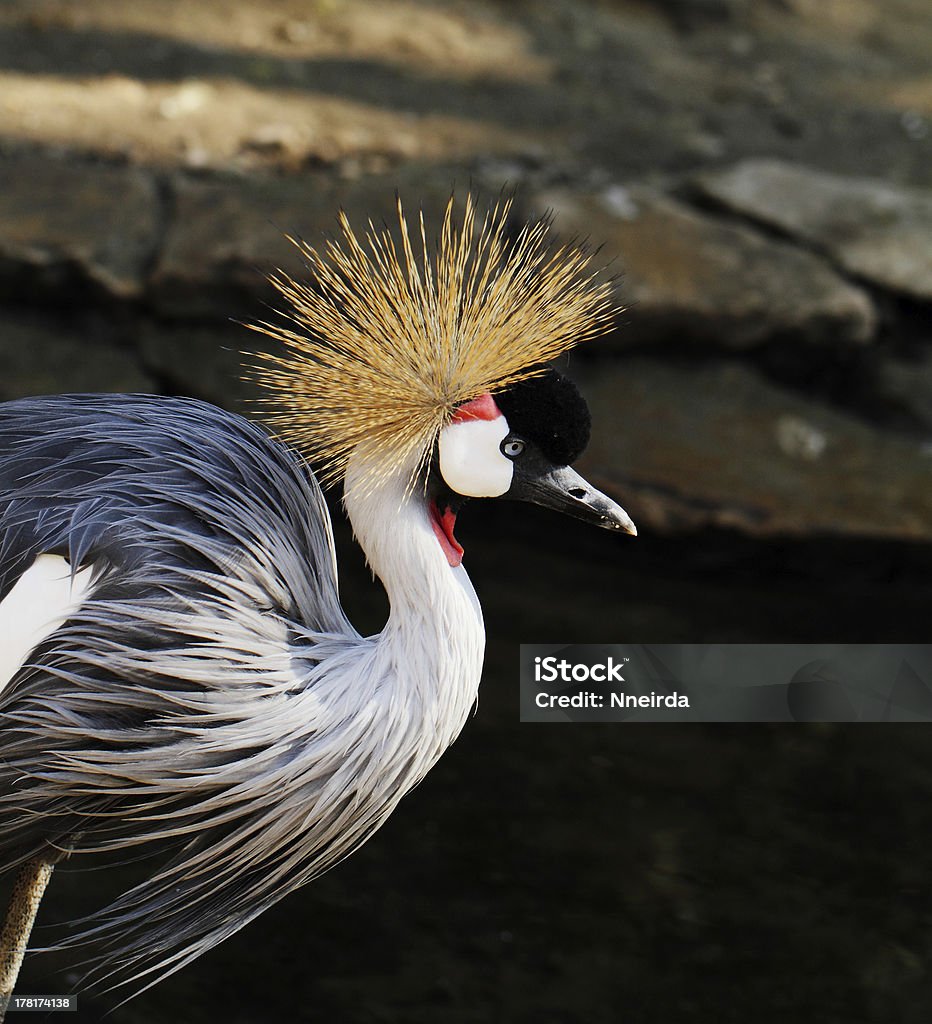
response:
<path id="1" fill-rule="evenodd" d="M 576 384 L 548 369 L 495 395 L 508 426 L 534 441 L 556 466 L 568 466 L 589 443 L 592 420 Z"/>

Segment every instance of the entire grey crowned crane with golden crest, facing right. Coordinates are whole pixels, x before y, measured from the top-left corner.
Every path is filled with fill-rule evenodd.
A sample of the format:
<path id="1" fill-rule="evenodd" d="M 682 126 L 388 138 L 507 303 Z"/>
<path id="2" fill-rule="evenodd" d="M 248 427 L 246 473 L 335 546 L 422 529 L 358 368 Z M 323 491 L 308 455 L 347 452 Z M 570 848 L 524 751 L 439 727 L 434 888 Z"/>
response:
<path id="1" fill-rule="evenodd" d="M 546 362 L 603 332 L 610 285 L 545 222 L 451 200 L 434 246 L 345 216 L 307 284 L 272 279 L 255 369 L 277 434 L 201 401 L 0 404 L 0 868 L 12 990 L 51 866 L 173 845 L 77 930 L 144 987 L 365 842 L 462 729 L 484 632 L 454 535 L 469 498 L 634 534 L 569 464 L 589 414 Z M 414 236 L 414 240 L 412 239 Z M 298 454 L 300 453 L 300 454 Z M 344 506 L 390 613 L 340 605 Z M 100 952 L 99 950 L 102 950 Z"/>

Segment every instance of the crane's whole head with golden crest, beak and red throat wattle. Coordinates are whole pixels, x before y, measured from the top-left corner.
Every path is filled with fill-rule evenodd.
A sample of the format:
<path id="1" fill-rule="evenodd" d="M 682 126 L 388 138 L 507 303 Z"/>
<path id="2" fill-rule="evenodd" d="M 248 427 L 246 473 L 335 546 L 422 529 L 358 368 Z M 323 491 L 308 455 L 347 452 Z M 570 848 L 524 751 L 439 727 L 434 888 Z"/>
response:
<path id="1" fill-rule="evenodd" d="M 510 201 L 484 217 L 451 198 L 432 245 L 423 213 L 361 240 L 345 214 L 323 249 L 295 244 L 311 271 L 279 271 L 286 323 L 251 325 L 283 343 L 262 356 L 270 419 L 286 440 L 353 488 L 421 487 L 448 560 L 467 498 L 535 502 L 634 534 L 627 513 L 570 463 L 589 437 L 576 387 L 547 364 L 603 333 L 617 308 L 591 254 L 556 246 L 548 220 L 512 231 Z M 294 240 L 293 240 L 294 241 Z M 362 469 L 361 469 L 362 464 Z"/>

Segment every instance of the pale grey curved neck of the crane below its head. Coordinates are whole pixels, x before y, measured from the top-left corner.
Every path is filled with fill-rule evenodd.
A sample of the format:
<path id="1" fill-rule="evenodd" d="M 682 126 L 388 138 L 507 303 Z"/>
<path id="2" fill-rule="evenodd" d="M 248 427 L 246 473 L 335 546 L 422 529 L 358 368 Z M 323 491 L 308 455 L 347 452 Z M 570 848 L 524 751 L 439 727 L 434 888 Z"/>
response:
<path id="1" fill-rule="evenodd" d="M 349 465 L 344 504 L 390 612 L 374 657 L 430 737 L 435 760 L 453 742 L 478 691 L 485 634 L 469 577 L 452 568 L 430 525 L 427 501 L 407 471 L 377 487 L 359 486 L 362 459 Z"/>

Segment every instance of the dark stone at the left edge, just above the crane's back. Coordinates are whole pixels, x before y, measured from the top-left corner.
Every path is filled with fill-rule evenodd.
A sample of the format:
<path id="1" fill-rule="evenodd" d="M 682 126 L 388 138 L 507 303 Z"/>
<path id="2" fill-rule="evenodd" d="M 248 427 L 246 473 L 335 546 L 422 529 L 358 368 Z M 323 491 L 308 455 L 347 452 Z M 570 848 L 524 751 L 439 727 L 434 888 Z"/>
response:
<path id="1" fill-rule="evenodd" d="M 0 312 L 0 400 L 61 391 L 152 391 L 131 349 L 39 317 Z"/>

